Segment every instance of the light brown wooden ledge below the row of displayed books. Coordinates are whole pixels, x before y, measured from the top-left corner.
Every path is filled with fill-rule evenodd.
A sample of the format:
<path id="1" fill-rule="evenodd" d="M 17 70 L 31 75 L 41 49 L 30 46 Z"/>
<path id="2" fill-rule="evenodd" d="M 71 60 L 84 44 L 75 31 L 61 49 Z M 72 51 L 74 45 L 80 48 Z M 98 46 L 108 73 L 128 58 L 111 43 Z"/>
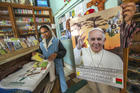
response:
<path id="1" fill-rule="evenodd" d="M 12 61 L 24 55 L 27 55 L 35 50 L 37 50 L 39 46 L 29 47 L 29 48 L 22 48 L 11 53 L 5 54 L 0 56 L 0 65 L 6 62 Z"/>

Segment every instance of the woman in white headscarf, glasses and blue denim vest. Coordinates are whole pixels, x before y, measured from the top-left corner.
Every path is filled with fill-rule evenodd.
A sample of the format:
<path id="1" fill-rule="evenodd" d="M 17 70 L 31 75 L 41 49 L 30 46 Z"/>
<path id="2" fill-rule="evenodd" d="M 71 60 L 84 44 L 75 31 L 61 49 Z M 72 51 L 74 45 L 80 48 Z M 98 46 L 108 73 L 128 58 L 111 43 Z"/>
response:
<path id="1" fill-rule="evenodd" d="M 56 67 L 56 74 L 59 75 L 61 91 L 66 92 L 67 84 L 65 80 L 62 58 L 66 54 L 66 49 L 62 45 L 61 41 L 58 40 L 52 29 L 48 25 L 43 25 L 39 29 L 42 37 L 40 42 L 40 49 L 45 59 L 48 61 L 54 61 Z"/>

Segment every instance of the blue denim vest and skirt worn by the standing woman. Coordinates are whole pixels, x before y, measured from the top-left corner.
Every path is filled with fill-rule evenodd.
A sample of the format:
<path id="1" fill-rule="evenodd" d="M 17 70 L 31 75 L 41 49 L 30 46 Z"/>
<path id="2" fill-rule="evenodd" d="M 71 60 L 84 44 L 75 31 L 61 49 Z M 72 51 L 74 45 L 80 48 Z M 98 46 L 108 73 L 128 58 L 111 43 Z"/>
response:
<path id="1" fill-rule="evenodd" d="M 40 49 L 41 49 L 41 51 L 43 53 L 43 56 L 46 59 L 48 59 L 48 57 L 51 54 L 57 53 L 57 51 L 58 51 L 58 44 L 59 44 L 59 40 L 57 38 L 53 38 L 52 44 L 46 50 L 45 47 L 44 47 L 44 45 L 43 45 L 43 42 L 40 42 Z M 66 80 L 65 80 L 62 59 L 56 58 L 54 60 L 54 63 L 55 63 L 55 67 L 56 67 L 56 74 L 59 75 L 61 91 L 62 92 L 66 92 L 66 90 L 67 90 L 68 87 L 67 87 Z"/>

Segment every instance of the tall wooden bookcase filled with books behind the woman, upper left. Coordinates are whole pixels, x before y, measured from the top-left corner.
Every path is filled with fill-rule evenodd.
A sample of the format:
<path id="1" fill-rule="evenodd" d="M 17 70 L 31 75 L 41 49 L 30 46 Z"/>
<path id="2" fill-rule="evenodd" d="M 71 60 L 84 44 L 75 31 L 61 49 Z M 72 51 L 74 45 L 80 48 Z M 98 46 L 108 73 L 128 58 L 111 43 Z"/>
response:
<path id="1" fill-rule="evenodd" d="M 2 2 L 0 3 L 0 14 L 0 32 L 11 31 L 13 34 L 10 35 L 18 38 L 31 35 L 38 38 L 38 28 L 43 24 L 51 25 L 53 23 L 51 9 L 48 7 Z M 2 33 L 0 37 L 2 37 Z"/>

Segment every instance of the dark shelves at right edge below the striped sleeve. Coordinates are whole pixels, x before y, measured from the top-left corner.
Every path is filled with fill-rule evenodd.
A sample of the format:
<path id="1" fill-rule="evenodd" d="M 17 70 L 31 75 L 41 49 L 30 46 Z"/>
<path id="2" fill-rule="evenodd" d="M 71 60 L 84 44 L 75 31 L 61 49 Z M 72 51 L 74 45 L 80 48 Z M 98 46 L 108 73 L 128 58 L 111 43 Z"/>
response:
<path id="1" fill-rule="evenodd" d="M 137 14 L 136 14 L 137 15 Z M 140 91 L 140 31 L 132 39 L 129 47 L 127 93 L 139 93 Z"/>

